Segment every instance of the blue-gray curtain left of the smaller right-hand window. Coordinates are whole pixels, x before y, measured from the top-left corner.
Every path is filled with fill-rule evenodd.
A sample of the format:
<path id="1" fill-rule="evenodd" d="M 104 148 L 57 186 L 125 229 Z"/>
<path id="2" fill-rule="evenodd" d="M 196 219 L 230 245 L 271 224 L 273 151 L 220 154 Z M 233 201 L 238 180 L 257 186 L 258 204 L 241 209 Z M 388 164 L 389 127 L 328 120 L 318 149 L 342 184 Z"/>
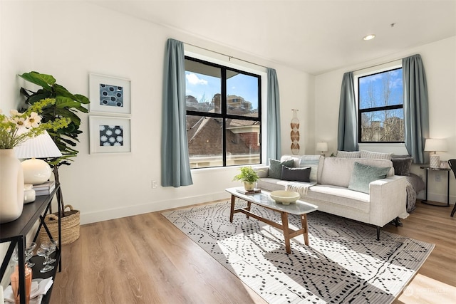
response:
<path id="1" fill-rule="evenodd" d="M 341 104 L 339 105 L 339 123 L 337 150 L 358 151 L 358 115 L 356 110 L 353 72 L 343 74 Z"/>

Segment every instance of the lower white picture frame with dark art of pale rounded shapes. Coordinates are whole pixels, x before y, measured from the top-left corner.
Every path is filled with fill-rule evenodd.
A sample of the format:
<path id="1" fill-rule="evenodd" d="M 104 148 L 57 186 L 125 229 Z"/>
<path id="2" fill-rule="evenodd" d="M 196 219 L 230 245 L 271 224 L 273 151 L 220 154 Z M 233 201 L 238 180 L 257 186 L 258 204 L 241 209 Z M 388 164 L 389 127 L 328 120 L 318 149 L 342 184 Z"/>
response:
<path id="1" fill-rule="evenodd" d="M 130 153 L 130 117 L 89 116 L 90 154 Z"/>

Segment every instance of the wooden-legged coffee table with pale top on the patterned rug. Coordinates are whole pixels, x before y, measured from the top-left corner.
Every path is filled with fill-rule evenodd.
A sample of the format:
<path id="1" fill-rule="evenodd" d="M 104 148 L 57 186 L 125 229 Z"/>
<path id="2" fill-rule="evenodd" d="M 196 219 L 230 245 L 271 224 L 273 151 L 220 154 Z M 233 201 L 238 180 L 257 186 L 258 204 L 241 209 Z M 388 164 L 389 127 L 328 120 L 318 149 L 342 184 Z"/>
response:
<path id="1" fill-rule="evenodd" d="M 305 201 L 298 200 L 296 204 L 289 204 L 283 205 L 278 204 L 274 199 L 271 199 L 269 196 L 269 192 L 261 190 L 261 193 L 256 194 L 242 194 L 237 192 L 237 187 L 225 189 L 229 194 L 231 194 L 231 210 L 229 212 L 229 221 L 233 222 L 233 215 L 237 212 L 242 212 L 243 214 L 247 215 L 247 219 L 249 216 L 252 216 L 254 219 L 262 221 L 266 224 L 269 224 L 277 229 L 280 229 L 284 233 L 285 239 L 285 248 L 286 253 L 291 253 L 290 247 L 290 239 L 294 238 L 295 236 L 299 236 L 301 234 L 304 235 L 304 243 L 309 246 L 309 234 L 307 229 L 307 214 L 312 211 L 316 211 L 318 206 L 313 204 L 306 203 Z M 247 201 L 247 207 L 241 209 L 234 209 L 234 202 L 236 198 L 243 199 Z M 281 214 L 281 221 L 282 224 L 276 223 L 275 221 L 271 221 L 270 219 L 265 219 L 257 214 L 254 214 L 250 211 L 250 206 L 256 204 L 258 206 L 262 206 L 267 209 L 271 209 L 277 211 Z M 288 215 L 289 214 L 296 214 L 301 217 L 301 226 L 302 228 L 299 230 L 293 230 L 289 228 L 288 223 Z"/>

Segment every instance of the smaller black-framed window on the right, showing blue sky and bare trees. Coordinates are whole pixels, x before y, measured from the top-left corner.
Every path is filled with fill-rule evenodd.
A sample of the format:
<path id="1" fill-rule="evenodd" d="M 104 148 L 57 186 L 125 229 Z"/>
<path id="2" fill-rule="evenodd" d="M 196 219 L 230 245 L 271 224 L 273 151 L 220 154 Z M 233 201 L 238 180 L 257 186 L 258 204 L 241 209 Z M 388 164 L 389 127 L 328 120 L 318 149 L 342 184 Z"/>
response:
<path id="1" fill-rule="evenodd" d="M 404 142 L 402 68 L 358 77 L 358 142 Z"/>

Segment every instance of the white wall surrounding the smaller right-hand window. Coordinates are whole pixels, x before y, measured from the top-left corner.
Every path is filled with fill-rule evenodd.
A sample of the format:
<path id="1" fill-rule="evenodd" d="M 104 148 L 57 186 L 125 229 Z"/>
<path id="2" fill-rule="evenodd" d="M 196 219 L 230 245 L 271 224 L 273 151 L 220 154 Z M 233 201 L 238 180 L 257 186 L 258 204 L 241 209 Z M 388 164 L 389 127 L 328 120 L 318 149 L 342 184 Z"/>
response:
<path id="1" fill-rule="evenodd" d="M 447 139 L 449 150 L 439 152 L 441 160 L 456 158 L 456 37 L 316 76 L 315 136 L 318 140 L 328 142 L 329 154 L 337 150 L 338 105 L 343 73 L 414 54 L 420 54 L 425 65 L 429 94 L 430 137 Z M 368 149 L 366 148 L 366 150 Z M 372 150 L 378 150 L 378 147 L 372 147 Z M 424 170 L 420 169 L 418 165 L 413 165 L 412 172 L 425 176 Z M 446 202 L 447 174 L 445 172 L 439 173 L 442 177 L 441 182 L 435 182 L 436 172 L 429 174 L 428 199 Z M 452 173 L 450 174 L 450 189 L 450 203 L 454 204 L 456 187 L 455 177 Z"/>

